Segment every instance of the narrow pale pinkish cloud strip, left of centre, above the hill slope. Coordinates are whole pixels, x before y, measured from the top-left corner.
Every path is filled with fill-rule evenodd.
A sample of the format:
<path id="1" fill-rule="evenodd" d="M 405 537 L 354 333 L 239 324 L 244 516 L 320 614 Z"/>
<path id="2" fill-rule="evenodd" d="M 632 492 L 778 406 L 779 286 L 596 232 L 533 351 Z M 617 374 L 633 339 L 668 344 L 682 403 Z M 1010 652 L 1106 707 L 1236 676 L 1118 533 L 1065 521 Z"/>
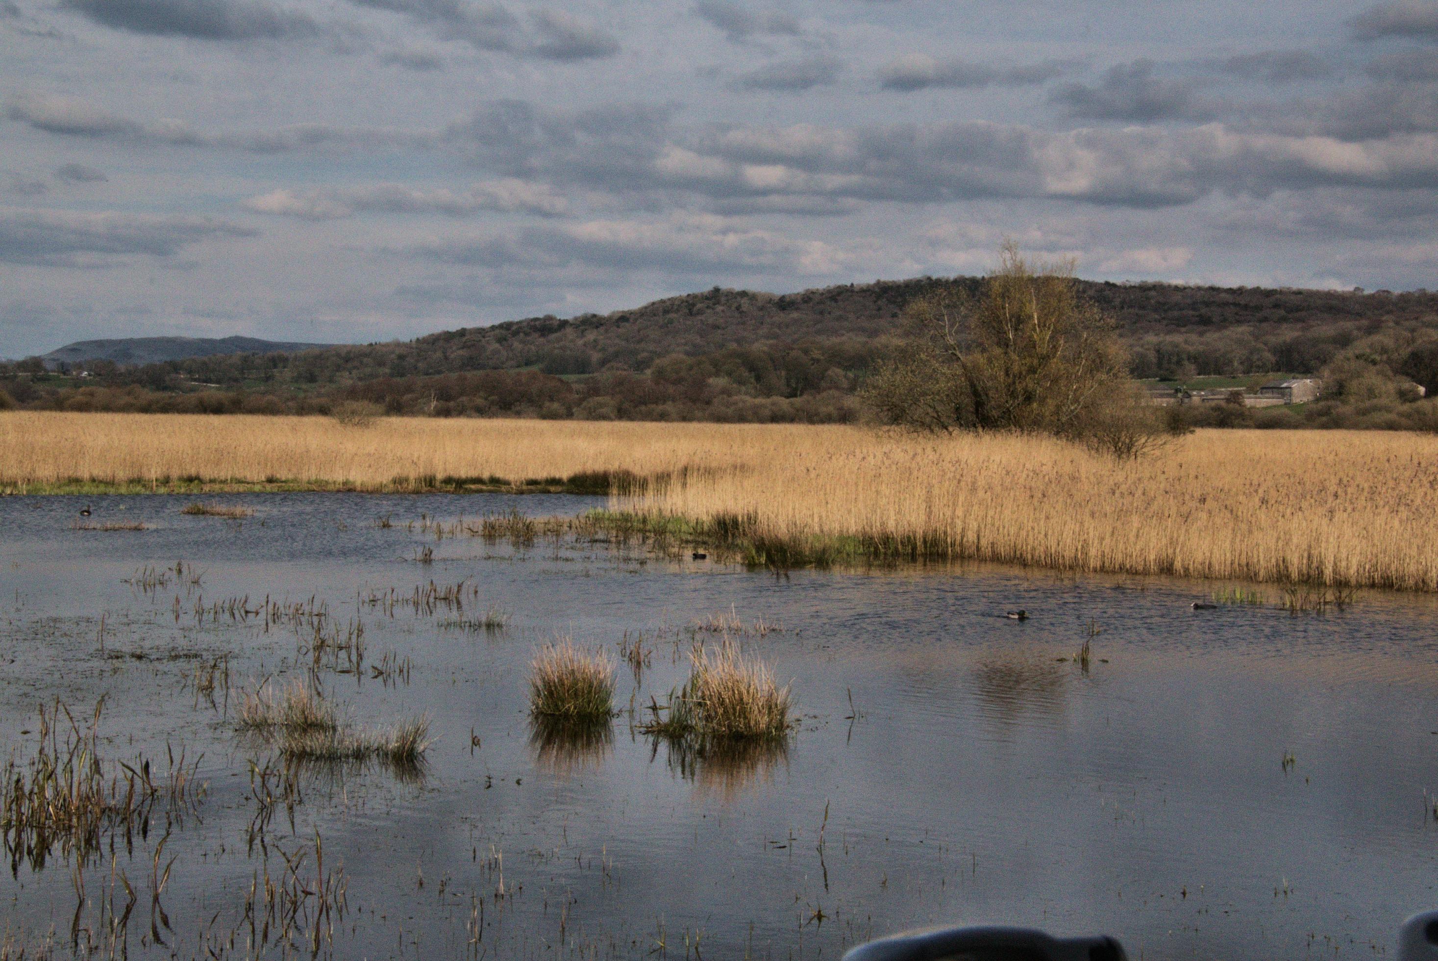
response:
<path id="1" fill-rule="evenodd" d="M 568 210 L 568 201 L 551 187 L 515 178 L 475 184 L 464 191 L 416 190 L 403 184 L 367 184 L 309 191 L 273 190 L 250 197 L 244 206 L 256 213 L 303 220 L 336 220 L 352 217 L 361 211 L 437 213 L 459 217 L 480 210 L 523 211 L 539 216 L 559 216 Z"/>

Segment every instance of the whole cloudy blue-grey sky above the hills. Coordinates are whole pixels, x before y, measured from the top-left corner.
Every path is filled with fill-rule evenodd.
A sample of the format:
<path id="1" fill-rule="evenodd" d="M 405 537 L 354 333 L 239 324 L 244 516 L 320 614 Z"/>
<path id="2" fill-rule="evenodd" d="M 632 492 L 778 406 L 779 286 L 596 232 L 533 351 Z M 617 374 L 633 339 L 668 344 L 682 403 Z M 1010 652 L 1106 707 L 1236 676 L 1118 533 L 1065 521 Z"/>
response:
<path id="1" fill-rule="evenodd" d="M 0 0 L 0 357 L 981 273 L 1438 288 L 1438 0 Z"/>

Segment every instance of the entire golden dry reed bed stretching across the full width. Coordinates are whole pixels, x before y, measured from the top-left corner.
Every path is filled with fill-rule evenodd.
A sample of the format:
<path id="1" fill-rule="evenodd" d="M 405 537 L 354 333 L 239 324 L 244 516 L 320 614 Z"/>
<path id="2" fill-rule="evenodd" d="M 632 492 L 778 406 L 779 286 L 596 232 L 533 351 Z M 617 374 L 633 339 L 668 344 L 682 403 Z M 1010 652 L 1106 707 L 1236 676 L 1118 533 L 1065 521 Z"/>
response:
<path id="1" fill-rule="evenodd" d="M 687 475 L 684 470 L 687 470 Z M 615 506 L 774 538 L 907 539 L 1077 571 L 1438 590 L 1438 437 L 1201 430 L 1116 462 L 1041 437 L 861 427 L 0 413 L 0 486 L 164 476 L 362 489 L 424 475 L 683 475 Z"/>

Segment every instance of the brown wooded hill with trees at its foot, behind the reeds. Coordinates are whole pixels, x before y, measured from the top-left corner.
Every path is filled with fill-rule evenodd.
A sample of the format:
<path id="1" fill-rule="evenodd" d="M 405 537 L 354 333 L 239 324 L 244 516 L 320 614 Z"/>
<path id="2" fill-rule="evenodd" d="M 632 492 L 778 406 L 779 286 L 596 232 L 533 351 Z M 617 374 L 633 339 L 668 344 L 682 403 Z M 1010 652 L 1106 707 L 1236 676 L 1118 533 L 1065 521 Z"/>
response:
<path id="1" fill-rule="evenodd" d="M 716 420 L 853 420 L 856 388 L 897 347 L 922 278 L 800 293 L 715 288 L 572 319 L 541 316 L 408 342 L 290 354 L 86 364 L 79 386 L 0 370 L 26 407 Z M 1319 374 L 1368 364 L 1438 393 L 1438 293 L 1365 293 L 1080 281 L 1120 325 L 1140 378 Z"/>

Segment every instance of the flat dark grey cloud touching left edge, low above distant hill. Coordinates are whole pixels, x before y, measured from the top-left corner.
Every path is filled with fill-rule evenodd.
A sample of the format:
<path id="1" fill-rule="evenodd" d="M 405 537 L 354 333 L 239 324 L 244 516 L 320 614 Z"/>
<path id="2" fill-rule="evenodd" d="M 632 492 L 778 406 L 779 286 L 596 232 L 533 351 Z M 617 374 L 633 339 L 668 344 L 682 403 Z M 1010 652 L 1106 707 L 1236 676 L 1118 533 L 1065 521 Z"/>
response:
<path id="1" fill-rule="evenodd" d="M 127 256 L 171 258 L 211 237 L 253 230 L 197 217 L 0 213 L 0 260 L 32 266 L 92 266 Z"/>

